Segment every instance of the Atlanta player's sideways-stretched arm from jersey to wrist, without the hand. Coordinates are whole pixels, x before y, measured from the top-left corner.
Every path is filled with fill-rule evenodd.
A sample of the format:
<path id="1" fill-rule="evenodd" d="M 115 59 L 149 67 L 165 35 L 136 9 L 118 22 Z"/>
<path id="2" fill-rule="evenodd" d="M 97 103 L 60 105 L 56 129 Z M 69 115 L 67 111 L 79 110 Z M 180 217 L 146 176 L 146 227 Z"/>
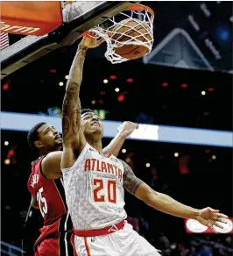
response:
<path id="1" fill-rule="evenodd" d="M 138 179 L 129 165 L 124 161 L 122 163 L 124 165 L 124 188 L 133 196 L 136 196 L 156 210 L 176 217 L 197 218 L 199 216 L 200 210 L 191 208 L 175 201 L 170 196 L 154 191 L 144 181 Z"/>

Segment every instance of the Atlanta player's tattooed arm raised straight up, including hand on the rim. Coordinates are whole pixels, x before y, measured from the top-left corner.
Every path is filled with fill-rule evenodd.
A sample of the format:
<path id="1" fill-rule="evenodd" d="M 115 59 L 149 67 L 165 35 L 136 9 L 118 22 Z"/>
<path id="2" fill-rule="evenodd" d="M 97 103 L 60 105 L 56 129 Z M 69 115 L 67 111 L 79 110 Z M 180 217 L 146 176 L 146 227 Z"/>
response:
<path id="1" fill-rule="evenodd" d="M 62 134 L 63 153 L 61 168 L 71 167 L 81 150 L 86 145 L 86 139 L 81 131 L 80 86 L 83 64 L 88 48 L 99 46 L 102 41 L 86 37 L 82 39 L 74 56 L 69 71 L 66 94 L 62 104 Z"/>

